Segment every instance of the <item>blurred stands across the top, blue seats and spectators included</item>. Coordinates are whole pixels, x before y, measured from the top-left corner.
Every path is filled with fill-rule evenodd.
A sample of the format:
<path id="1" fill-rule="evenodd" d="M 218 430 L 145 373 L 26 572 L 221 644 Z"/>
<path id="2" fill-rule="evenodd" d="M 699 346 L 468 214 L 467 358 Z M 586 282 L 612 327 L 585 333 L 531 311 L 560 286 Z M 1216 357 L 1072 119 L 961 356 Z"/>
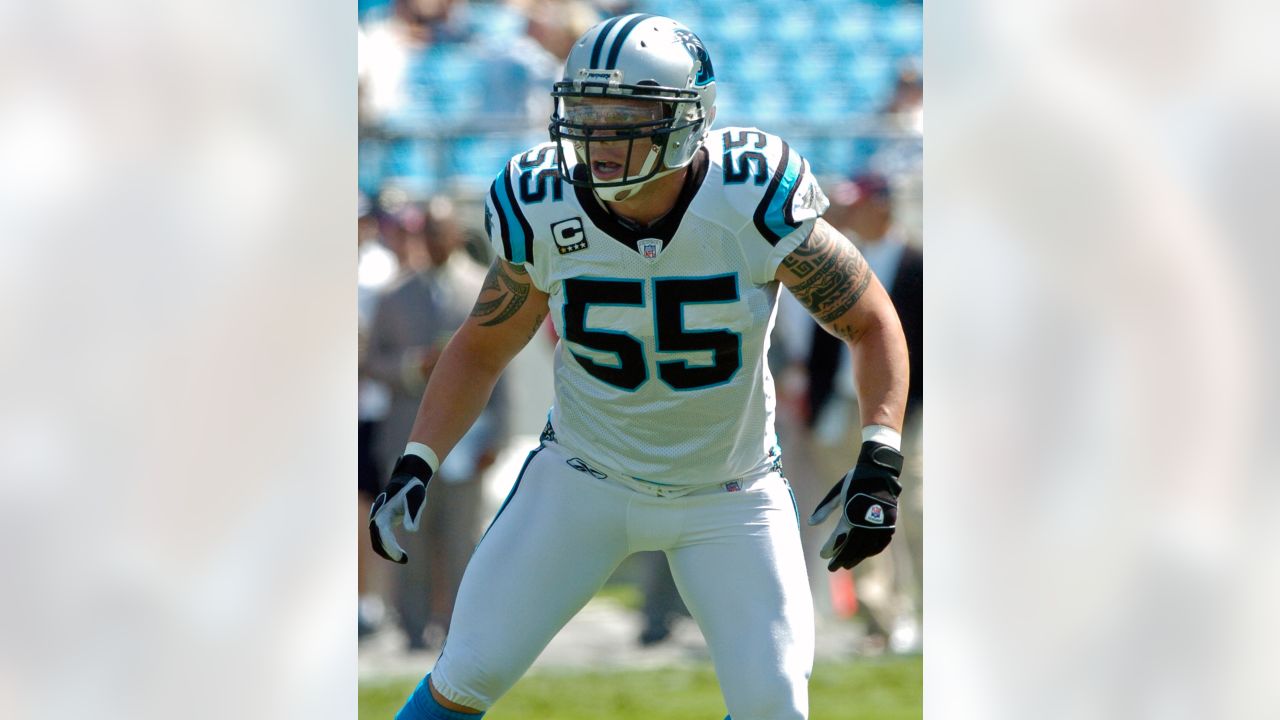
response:
<path id="1" fill-rule="evenodd" d="M 361 191 L 486 191 L 507 159 L 545 142 L 547 88 L 573 40 L 632 12 L 675 18 L 705 42 L 718 127 L 783 133 L 819 176 L 876 168 L 918 181 L 919 3 L 360 0 Z"/>

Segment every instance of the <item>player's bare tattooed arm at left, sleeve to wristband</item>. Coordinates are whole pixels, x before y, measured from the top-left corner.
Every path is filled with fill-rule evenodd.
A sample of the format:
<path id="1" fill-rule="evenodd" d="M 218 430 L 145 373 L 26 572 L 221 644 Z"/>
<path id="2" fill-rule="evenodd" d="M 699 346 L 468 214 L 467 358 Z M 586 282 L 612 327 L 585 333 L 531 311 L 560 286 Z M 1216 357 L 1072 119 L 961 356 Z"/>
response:
<path id="1" fill-rule="evenodd" d="M 521 265 L 493 261 L 471 316 L 449 340 L 422 393 L 410 439 L 440 460 L 480 416 L 498 375 L 547 316 L 547 293 Z"/>

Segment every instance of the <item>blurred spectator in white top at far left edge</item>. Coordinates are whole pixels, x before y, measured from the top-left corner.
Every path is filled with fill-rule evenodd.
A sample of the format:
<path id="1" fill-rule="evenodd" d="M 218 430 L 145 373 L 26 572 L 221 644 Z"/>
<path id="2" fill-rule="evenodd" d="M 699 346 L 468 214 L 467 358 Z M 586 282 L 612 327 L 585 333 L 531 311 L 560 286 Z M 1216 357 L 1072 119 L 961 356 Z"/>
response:
<path id="1" fill-rule="evenodd" d="M 381 583 L 376 578 L 380 574 L 383 564 L 374 559 L 374 552 L 369 546 L 367 525 L 369 507 L 379 492 L 383 474 L 383 466 L 378 461 L 374 442 L 378 437 L 378 428 L 387 416 L 387 410 L 390 405 L 390 393 L 387 384 L 369 375 L 365 360 L 369 354 L 369 325 L 378 306 L 378 296 L 396 279 L 396 275 L 399 273 L 399 263 L 396 259 L 396 254 L 383 245 L 378 217 L 374 213 L 372 204 L 364 193 L 360 196 L 356 234 L 360 254 L 356 284 L 356 315 L 358 323 L 357 357 L 360 372 L 360 382 L 356 391 L 360 423 L 356 442 L 360 488 L 360 555 L 357 556 L 356 587 L 360 594 L 358 628 L 360 634 L 365 635 L 375 630 L 383 619 Z"/>

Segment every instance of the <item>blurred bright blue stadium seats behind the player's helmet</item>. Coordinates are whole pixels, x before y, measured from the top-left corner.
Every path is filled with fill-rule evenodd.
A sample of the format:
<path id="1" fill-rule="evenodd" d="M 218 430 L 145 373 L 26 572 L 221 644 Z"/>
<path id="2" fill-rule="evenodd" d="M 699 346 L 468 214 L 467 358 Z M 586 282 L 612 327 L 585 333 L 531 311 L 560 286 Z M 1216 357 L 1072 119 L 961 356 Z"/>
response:
<path id="1" fill-rule="evenodd" d="M 362 23 L 385 17 L 392 0 L 360 0 Z M 897 69 L 920 56 L 922 8 L 899 0 L 646 0 L 637 12 L 673 17 L 698 28 L 721 81 L 717 124 L 786 132 L 819 174 L 855 170 L 879 147 L 855 122 L 882 110 Z M 393 182 L 411 192 L 488 187 L 503 160 L 545 138 L 535 115 L 527 131 L 502 120 L 518 100 L 493 97 L 503 73 L 520 73 L 488 49 L 511 42 L 522 20 L 498 1 L 472 0 L 467 42 L 447 42 L 413 56 L 406 104 L 365 127 L 360 186 L 374 193 Z M 516 78 L 520 79 L 520 78 Z"/>

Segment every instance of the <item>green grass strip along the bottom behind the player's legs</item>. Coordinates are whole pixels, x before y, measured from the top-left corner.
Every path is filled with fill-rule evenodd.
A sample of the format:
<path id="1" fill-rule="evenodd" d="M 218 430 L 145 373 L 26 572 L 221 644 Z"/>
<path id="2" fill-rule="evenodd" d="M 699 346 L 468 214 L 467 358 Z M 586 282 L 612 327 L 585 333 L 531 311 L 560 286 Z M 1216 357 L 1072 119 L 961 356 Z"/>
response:
<path id="1" fill-rule="evenodd" d="M 893 657 L 818 664 L 809 683 L 813 720 L 918 720 L 923 660 Z M 389 720 L 416 680 L 360 687 L 361 720 Z M 722 720 L 710 666 L 609 673 L 536 673 L 485 720 Z"/>

